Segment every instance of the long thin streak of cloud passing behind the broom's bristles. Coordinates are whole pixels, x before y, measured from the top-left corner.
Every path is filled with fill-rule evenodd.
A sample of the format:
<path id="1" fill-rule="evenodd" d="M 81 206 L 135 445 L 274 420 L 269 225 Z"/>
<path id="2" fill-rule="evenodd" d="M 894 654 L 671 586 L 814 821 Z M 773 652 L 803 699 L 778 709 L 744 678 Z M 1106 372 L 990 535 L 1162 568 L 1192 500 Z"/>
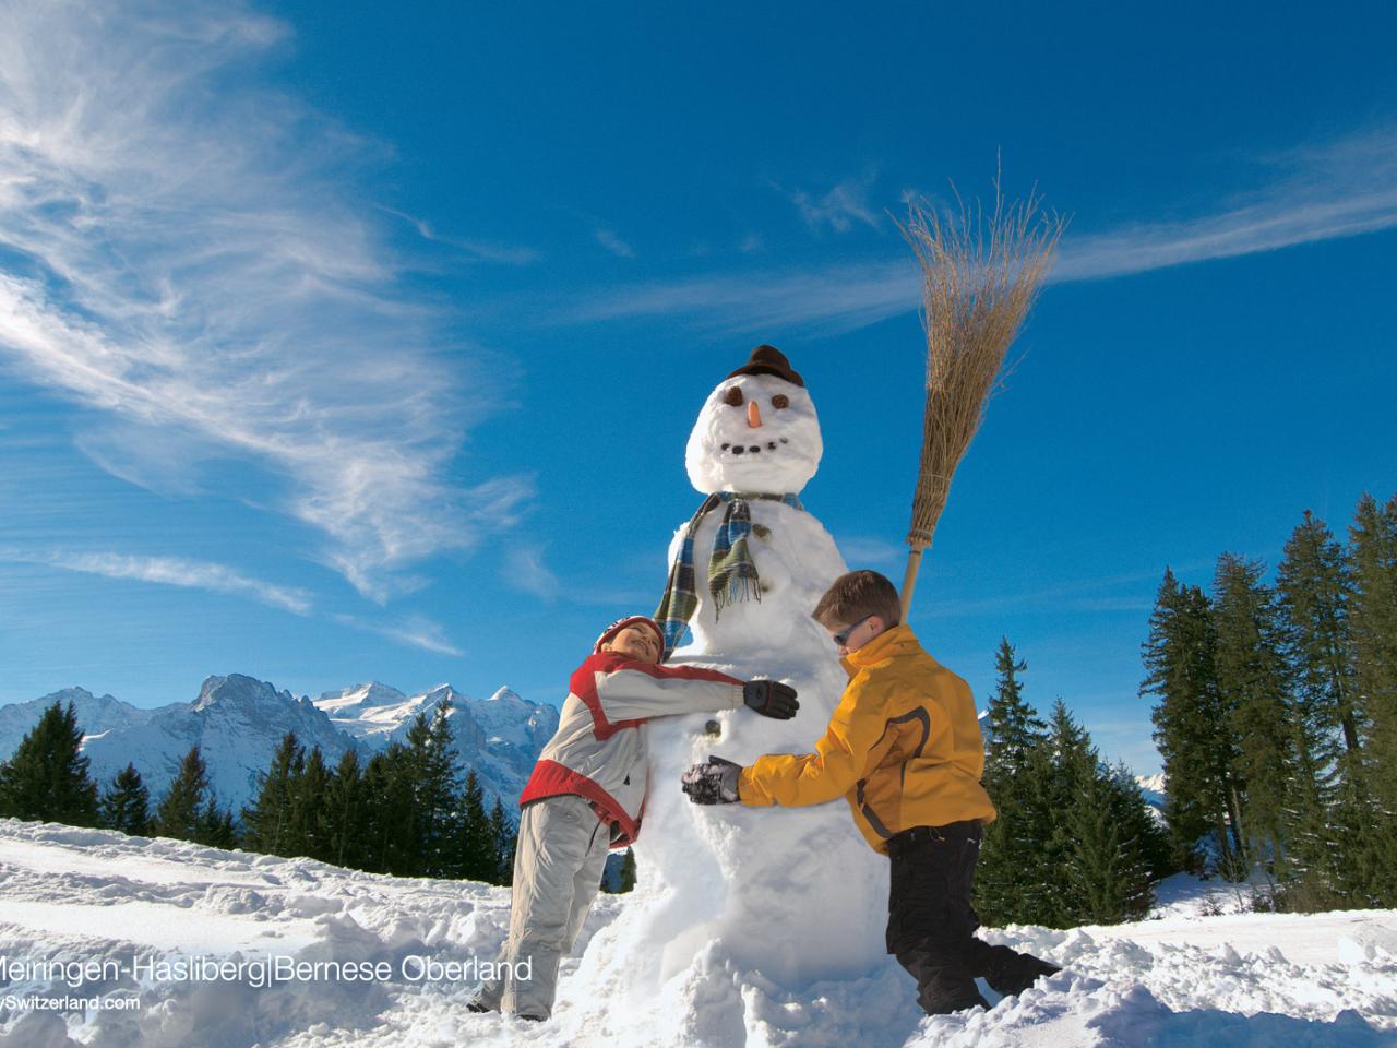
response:
<path id="1" fill-rule="evenodd" d="M 1049 279 L 1106 279 L 1397 226 L 1397 127 L 1264 157 L 1259 165 L 1259 187 L 1210 212 L 1069 233 Z M 911 312 L 919 302 L 921 274 L 904 253 L 806 271 L 623 286 L 578 305 L 570 319 L 679 316 L 721 331 L 800 327 L 838 334 Z"/>

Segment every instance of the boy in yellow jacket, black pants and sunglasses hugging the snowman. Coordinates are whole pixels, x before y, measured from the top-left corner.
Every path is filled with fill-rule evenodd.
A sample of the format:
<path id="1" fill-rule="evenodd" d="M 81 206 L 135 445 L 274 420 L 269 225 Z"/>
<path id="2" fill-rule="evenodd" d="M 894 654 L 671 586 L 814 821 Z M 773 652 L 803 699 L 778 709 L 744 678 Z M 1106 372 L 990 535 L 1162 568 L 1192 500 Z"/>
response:
<path id="1" fill-rule="evenodd" d="M 1018 994 L 1059 968 L 975 936 L 971 887 L 995 805 L 979 784 L 985 748 L 970 687 L 900 625 L 897 588 L 849 572 L 814 619 L 840 648 L 849 685 L 814 753 L 770 753 L 740 767 L 694 764 L 694 803 L 817 805 L 842 795 L 869 845 L 891 859 L 887 950 L 916 980 L 929 1014 L 981 1005 L 975 978 Z"/>

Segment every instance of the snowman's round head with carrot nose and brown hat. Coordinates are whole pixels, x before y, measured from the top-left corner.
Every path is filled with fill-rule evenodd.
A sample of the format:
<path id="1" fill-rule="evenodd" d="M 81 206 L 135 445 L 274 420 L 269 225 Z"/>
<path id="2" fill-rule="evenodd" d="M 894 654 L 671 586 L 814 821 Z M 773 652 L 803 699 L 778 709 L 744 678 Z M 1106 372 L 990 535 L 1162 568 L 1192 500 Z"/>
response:
<path id="1" fill-rule="evenodd" d="M 714 387 L 689 435 L 689 481 L 712 492 L 799 492 L 814 476 L 824 443 L 800 376 L 777 349 L 752 359 Z"/>

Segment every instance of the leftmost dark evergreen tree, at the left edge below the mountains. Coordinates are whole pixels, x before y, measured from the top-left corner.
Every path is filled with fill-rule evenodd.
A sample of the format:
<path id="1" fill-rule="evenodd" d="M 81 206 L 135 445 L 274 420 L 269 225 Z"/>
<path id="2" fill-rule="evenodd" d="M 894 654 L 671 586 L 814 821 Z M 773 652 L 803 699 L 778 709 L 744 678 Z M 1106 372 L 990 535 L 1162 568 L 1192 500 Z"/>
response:
<path id="1" fill-rule="evenodd" d="M 0 816 L 96 826 L 96 784 L 81 750 L 71 700 L 67 706 L 54 700 L 0 764 Z"/>

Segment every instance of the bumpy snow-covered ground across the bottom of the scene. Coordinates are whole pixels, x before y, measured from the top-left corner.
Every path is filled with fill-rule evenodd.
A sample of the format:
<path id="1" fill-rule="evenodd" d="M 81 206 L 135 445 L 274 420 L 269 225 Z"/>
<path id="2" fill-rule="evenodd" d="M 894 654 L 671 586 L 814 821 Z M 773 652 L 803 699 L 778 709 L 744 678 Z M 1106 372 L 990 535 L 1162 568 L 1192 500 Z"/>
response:
<path id="1" fill-rule="evenodd" d="M 592 957 L 564 963 L 546 1024 L 469 1013 L 471 966 L 495 959 L 506 889 L 0 820 L 0 1045 L 1397 1045 L 1397 911 L 1246 912 L 1245 894 L 1186 878 L 1161 898 L 1139 924 L 986 931 L 1066 970 L 989 1012 L 936 1019 L 918 1013 L 911 978 L 891 961 L 858 981 L 780 987 L 711 943 L 704 985 L 740 1000 L 740 1026 L 714 1028 L 700 1005 L 669 1016 L 661 1035 L 665 1000 L 692 995 L 666 987 L 627 1000 L 592 974 Z M 602 896 L 577 953 L 594 938 L 598 950 L 612 946 L 605 932 L 626 905 Z M 243 961 L 242 978 L 155 967 L 180 959 Z M 71 973 L 68 988 L 36 961 L 106 968 Z M 256 985 L 264 968 L 317 961 L 341 971 Z M 422 978 L 426 963 L 457 970 Z M 24 1000 L 35 996 L 85 1003 L 57 1012 Z M 112 1006 L 122 1000 L 134 1006 Z"/>

